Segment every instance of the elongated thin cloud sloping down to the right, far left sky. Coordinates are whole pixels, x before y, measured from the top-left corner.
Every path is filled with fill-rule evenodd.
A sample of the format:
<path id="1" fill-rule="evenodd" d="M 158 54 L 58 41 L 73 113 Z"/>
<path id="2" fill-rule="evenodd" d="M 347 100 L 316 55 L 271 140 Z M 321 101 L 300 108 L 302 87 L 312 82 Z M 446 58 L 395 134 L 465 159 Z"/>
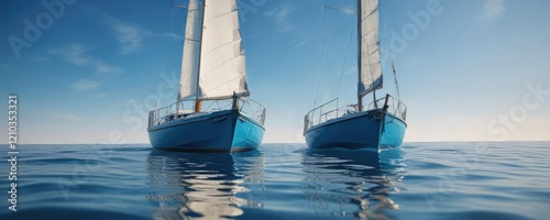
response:
<path id="1" fill-rule="evenodd" d="M 112 66 L 106 62 L 96 58 L 94 56 L 87 55 L 87 48 L 81 44 L 72 44 L 69 46 L 61 47 L 58 50 L 53 50 L 51 54 L 63 57 L 64 59 L 78 65 L 78 66 L 91 66 L 98 73 L 109 74 L 109 73 L 123 73 L 124 70 L 120 66 Z"/>

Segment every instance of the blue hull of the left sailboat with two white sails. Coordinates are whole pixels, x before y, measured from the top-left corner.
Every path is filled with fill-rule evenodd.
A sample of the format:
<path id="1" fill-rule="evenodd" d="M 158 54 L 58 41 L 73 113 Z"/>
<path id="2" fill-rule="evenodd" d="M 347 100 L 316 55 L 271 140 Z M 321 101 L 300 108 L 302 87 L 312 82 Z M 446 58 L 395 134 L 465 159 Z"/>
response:
<path id="1" fill-rule="evenodd" d="M 196 113 L 147 131 L 153 147 L 168 151 L 250 151 L 264 136 L 264 128 L 239 110 Z"/>

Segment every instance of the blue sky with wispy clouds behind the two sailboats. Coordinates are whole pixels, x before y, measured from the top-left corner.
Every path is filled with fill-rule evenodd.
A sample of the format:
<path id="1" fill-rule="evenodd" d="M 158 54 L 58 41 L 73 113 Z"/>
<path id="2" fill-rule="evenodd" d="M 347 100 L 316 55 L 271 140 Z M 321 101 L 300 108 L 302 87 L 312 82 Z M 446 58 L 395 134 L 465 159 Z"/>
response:
<path id="1" fill-rule="evenodd" d="M 169 0 L 33 2 L 0 1 L 0 94 L 19 97 L 21 143 L 147 143 L 146 112 L 176 99 L 186 11 Z M 354 7 L 241 1 L 249 86 L 267 108 L 264 142 L 302 141 L 314 100 L 355 100 Z M 382 8 L 383 47 L 409 108 L 406 141 L 549 140 L 550 1 L 387 0 Z"/>

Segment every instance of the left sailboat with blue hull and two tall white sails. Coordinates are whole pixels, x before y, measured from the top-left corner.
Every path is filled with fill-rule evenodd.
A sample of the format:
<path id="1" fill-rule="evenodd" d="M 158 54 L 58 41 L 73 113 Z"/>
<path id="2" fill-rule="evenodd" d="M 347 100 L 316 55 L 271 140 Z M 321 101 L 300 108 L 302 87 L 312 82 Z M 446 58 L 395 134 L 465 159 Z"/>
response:
<path id="1" fill-rule="evenodd" d="M 190 0 L 177 101 L 148 113 L 148 138 L 168 151 L 257 148 L 265 108 L 250 99 L 237 0 Z"/>

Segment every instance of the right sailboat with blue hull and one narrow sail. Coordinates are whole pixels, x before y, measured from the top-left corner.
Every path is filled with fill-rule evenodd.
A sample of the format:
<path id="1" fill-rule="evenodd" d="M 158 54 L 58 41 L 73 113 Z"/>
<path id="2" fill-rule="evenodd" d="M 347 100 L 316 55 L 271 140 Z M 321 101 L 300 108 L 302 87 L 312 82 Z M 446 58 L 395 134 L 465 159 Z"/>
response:
<path id="1" fill-rule="evenodd" d="M 407 107 L 386 94 L 376 98 L 383 88 L 380 43 L 378 0 L 358 0 L 358 102 L 339 107 L 339 99 L 321 105 L 305 117 L 304 135 L 310 148 L 381 148 L 403 143 L 407 128 Z M 392 64 L 395 77 L 395 67 Z M 366 96 L 372 102 L 363 105 Z M 333 105 L 336 103 L 336 107 Z"/>

